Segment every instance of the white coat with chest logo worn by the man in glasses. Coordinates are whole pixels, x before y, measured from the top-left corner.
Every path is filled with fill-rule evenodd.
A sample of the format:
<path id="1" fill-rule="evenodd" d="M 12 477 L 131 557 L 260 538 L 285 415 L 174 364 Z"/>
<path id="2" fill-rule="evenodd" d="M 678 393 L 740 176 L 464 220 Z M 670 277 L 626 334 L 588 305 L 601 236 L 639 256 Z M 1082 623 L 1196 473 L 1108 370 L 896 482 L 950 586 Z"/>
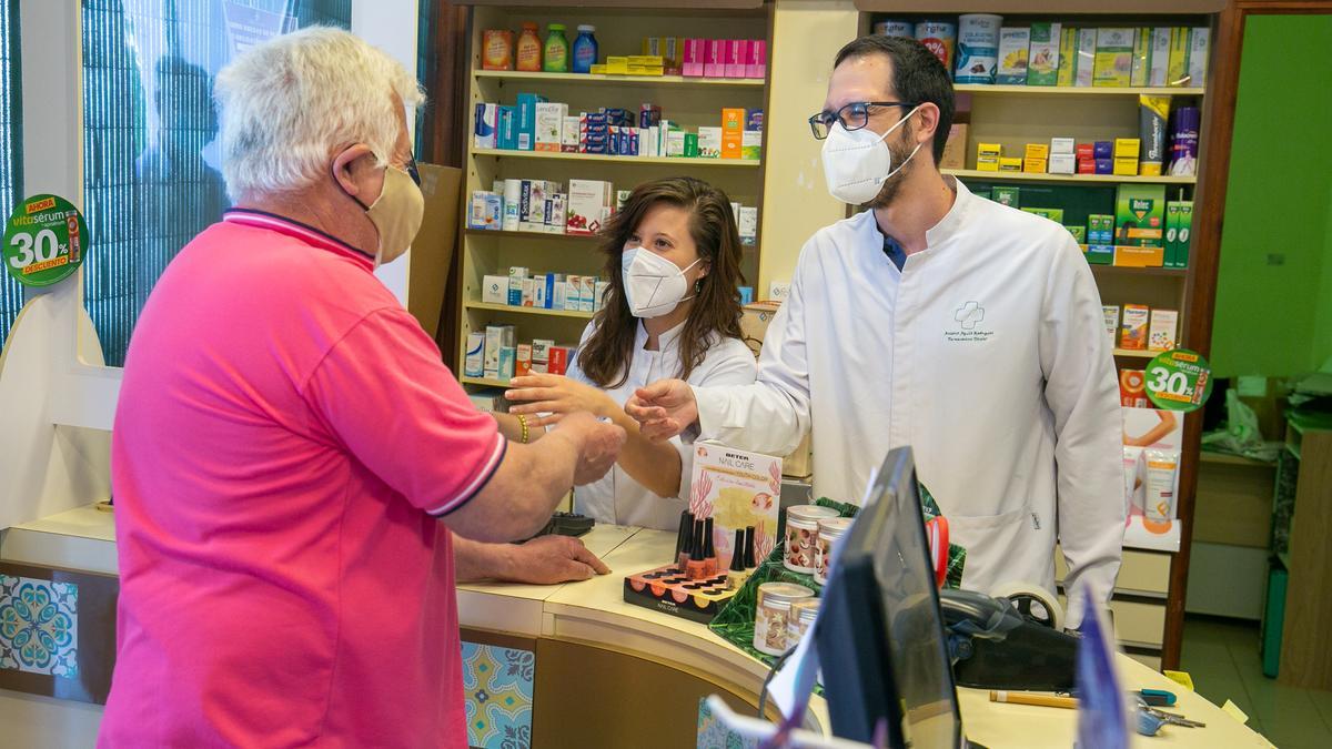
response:
<path id="1" fill-rule="evenodd" d="M 1058 537 L 1068 589 L 1082 580 L 1108 596 L 1126 517 L 1122 426 L 1087 261 L 1059 224 L 960 183 L 926 241 L 899 272 L 872 212 L 815 233 L 758 381 L 695 388 L 701 437 L 786 454 L 813 428 L 815 496 L 856 504 L 887 452 L 910 445 L 967 548 L 964 588 L 1054 590 Z"/>

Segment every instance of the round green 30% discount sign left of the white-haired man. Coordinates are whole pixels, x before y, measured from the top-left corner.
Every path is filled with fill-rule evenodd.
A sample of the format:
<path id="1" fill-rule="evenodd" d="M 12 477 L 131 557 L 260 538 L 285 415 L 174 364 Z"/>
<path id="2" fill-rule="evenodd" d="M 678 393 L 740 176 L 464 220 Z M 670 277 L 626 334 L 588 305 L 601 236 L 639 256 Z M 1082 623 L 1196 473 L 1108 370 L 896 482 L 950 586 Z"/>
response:
<path id="1" fill-rule="evenodd" d="M 49 287 L 79 269 L 88 239 L 88 224 L 73 204 L 57 195 L 35 195 L 5 223 L 0 257 L 20 284 Z"/>

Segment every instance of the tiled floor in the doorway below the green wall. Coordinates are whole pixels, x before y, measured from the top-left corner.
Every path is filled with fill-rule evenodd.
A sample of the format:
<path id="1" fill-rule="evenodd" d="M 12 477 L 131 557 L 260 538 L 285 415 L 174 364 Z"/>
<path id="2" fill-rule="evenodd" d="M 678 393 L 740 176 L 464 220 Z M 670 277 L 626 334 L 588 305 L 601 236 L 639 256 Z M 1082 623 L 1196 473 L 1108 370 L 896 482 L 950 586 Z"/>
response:
<path id="1" fill-rule="evenodd" d="M 1257 622 L 1188 617 L 1180 668 L 1199 694 L 1221 705 L 1233 700 L 1249 726 L 1280 749 L 1332 746 L 1332 692 L 1296 689 L 1263 676 Z"/>

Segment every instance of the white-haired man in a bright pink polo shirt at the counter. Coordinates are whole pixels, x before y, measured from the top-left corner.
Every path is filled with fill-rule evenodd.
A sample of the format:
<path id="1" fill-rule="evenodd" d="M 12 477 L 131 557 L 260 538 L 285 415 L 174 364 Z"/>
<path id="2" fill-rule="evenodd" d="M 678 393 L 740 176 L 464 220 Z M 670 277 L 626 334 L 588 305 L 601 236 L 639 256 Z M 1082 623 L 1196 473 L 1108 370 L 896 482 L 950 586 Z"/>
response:
<path id="1" fill-rule="evenodd" d="M 401 65 L 314 28 L 216 92 L 236 208 L 148 299 L 112 433 L 100 745 L 465 746 L 454 545 L 468 576 L 605 572 L 567 540 L 493 542 L 605 474 L 623 430 L 574 414 L 507 444 L 374 277 L 421 224 Z"/>

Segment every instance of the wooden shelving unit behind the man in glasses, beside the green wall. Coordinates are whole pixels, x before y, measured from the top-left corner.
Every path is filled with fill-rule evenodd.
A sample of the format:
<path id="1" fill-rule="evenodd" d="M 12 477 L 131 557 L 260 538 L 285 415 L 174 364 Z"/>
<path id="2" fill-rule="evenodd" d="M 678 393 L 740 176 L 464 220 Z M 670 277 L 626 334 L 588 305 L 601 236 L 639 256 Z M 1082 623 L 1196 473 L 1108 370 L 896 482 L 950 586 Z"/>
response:
<path id="1" fill-rule="evenodd" d="M 922 17 L 919 4 L 910 0 L 855 0 L 860 11 L 860 31 L 868 33 L 872 23 L 887 17 Z M 1096 285 L 1106 304 L 1144 304 L 1152 308 L 1180 312 L 1180 345 L 1207 353 L 1211 339 L 1211 311 L 1215 297 L 1215 261 L 1219 232 L 1208 224 L 1219 205 L 1209 207 L 1204 195 L 1212 195 L 1215 183 L 1221 183 L 1224 172 L 1209 177 L 1208 163 L 1212 128 L 1217 111 L 1233 108 L 1233 83 L 1220 81 L 1217 71 L 1229 65 L 1221 63 L 1217 52 L 1221 40 L 1224 0 L 1122 0 L 1103 3 L 1071 0 L 1050 5 L 1035 0 L 955 0 L 947 5 L 931 7 L 930 17 L 954 13 L 999 13 L 1003 25 L 1027 25 L 1032 21 L 1059 21 L 1066 27 L 1209 27 L 1212 53 L 1208 79 L 1201 85 L 1179 88 L 1098 88 L 1098 87 L 1027 87 L 1027 85 L 956 85 L 959 104 L 968 107 L 967 167 L 975 167 L 975 144 L 998 143 L 1006 155 L 1020 156 L 1026 143 L 1050 143 L 1051 137 L 1072 137 L 1079 143 L 1139 137 L 1138 97 L 1140 95 L 1171 96 L 1173 107 L 1196 105 L 1203 113 L 1199 176 L 1143 177 L 1115 175 L 1043 175 L 1023 172 L 979 172 L 972 169 L 948 171 L 963 183 L 987 187 L 1014 184 L 1022 188 L 1022 205 L 1027 188 L 1042 200 L 1054 195 L 1078 192 L 1084 203 L 1100 207 L 1094 213 L 1114 213 L 1114 188 L 1120 184 L 1166 185 L 1168 200 L 1193 200 L 1193 239 L 1187 269 L 1120 268 L 1091 265 Z M 1237 53 L 1236 53 L 1237 56 Z M 1219 85 L 1220 84 L 1220 85 Z M 1219 103 L 1219 104 L 1217 104 Z M 1225 117 L 1229 115 L 1227 113 Z M 1228 123 L 1227 123 L 1228 128 Z M 1228 129 L 1220 148 L 1229 141 Z M 1039 205 L 1058 208 L 1058 201 Z M 1078 219 L 1067 221 L 1079 223 Z M 1127 351 L 1116 348 L 1119 368 L 1142 369 L 1159 352 Z M 1183 529 L 1177 552 L 1140 550 L 1126 548 L 1120 580 L 1134 578 L 1136 586 L 1116 588 L 1112 608 L 1120 624 L 1130 624 L 1135 634 L 1126 641 L 1132 654 L 1146 662 L 1164 668 L 1179 666 L 1180 636 L 1183 630 L 1184 586 L 1188 570 L 1188 534 L 1192 529 L 1193 494 L 1197 482 L 1197 445 L 1201 432 L 1201 413 L 1184 418 L 1184 454 L 1179 478 L 1179 524 Z M 1169 564 L 1164 564 L 1168 558 Z M 1162 596 L 1144 605 L 1143 589 L 1159 590 Z M 1144 633 L 1159 636 L 1144 640 Z"/>

